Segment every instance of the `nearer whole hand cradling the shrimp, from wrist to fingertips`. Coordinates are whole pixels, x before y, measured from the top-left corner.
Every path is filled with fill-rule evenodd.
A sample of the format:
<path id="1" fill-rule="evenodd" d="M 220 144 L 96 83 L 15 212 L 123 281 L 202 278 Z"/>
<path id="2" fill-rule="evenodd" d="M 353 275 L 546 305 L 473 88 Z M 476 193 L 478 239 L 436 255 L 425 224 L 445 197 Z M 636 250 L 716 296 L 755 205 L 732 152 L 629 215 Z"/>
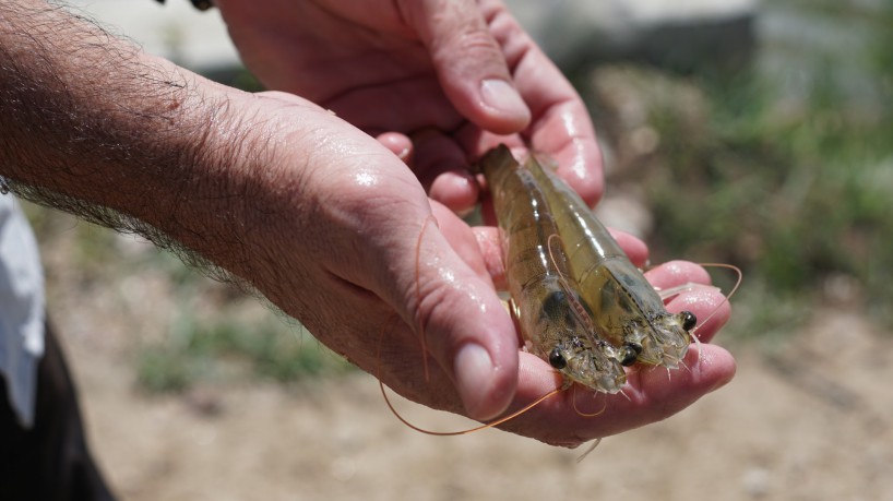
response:
<path id="1" fill-rule="evenodd" d="M 241 202 L 254 214 L 245 225 L 251 260 L 235 265 L 243 266 L 241 276 L 322 343 L 420 404 L 486 420 L 561 385 L 547 362 L 519 350 L 495 293 L 504 281 L 495 228 L 469 228 L 429 204 L 396 156 L 325 110 L 282 94 L 249 100 L 231 111 L 241 120 L 263 117 L 241 126 L 264 144 L 240 147 L 265 153 L 255 158 L 263 171 L 252 170 L 260 184 Z M 624 235 L 618 240 L 633 262 L 644 263 L 644 244 Z M 664 288 L 709 281 L 701 267 L 681 262 L 648 277 Z M 699 318 L 718 308 L 698 331 L 703 341 L 728 315 L 713 289 L 686 291 L 668 308 Z M 574 445 L 662 419 L 734 372 L 730 356 L 710 345 L 691 349 L 684 363 L 671 378 L 654 369 L 632 373 L 626 396 L 562 393 L 502 427 Z M 595 418 L 575 410 L 603 406 Z"/>

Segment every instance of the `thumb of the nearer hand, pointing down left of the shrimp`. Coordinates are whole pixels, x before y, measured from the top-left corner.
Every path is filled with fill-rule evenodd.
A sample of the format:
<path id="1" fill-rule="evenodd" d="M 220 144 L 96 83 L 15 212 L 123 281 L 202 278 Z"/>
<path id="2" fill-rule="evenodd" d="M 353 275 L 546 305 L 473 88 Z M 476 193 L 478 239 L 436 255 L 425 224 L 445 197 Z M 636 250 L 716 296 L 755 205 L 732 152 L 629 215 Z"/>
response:
<path id="1" fill-rule="evenodd" d="M 415 312 L 407 318 L 421 326 L 428 350 L 450 374 L 467 415 L 489 419 L 514 396 L 517 335 L 489 277 L 453 251 L 469 242 L 476 247 L 471 228 L 449 211 L 434 212 L 443 231 L 432 223 L 422 228 L 415 300 L 406 301 Z"/>

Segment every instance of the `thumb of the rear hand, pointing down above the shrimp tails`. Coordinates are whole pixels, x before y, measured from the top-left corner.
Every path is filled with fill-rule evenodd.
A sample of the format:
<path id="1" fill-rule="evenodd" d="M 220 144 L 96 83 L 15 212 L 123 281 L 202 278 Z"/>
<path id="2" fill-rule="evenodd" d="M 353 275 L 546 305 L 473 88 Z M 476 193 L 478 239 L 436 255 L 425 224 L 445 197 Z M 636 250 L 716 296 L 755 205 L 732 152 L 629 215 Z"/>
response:
<path id="1" fill-rule="evenodd" d="M 527 127 L 531 111 L 477 2 L 427 0 L 404 7 L 407 22 L 428 47 L 446 96 L 465 118 L 498 134 Z M 500 13 L 508 15 L 504 10 Z"/>

